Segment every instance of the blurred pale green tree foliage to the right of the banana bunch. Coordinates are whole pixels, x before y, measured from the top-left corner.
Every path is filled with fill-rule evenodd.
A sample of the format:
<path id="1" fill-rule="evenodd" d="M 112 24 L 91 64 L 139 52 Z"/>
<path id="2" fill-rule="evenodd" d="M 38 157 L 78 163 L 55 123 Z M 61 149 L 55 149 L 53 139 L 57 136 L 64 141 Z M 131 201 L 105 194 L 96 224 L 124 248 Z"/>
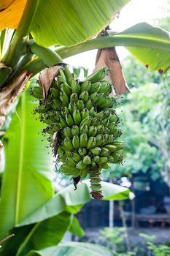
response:
<path id="1" fill-rule="evenodd" d="M 123 119 L 125 161 L 123 166 L 112 165 L 111 176 L 131 178 L 147 173 L 169 185 L 169 74 L 146 73 L 131 56 L 123 62 L 123 69 L 132 87 L 117 108 Z"/>

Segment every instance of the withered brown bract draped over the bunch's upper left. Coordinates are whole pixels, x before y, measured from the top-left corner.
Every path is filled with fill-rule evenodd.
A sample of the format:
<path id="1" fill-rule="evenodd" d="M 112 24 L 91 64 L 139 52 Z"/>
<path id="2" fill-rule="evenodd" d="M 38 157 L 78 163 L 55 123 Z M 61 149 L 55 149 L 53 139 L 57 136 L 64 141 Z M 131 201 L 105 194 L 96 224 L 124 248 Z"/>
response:
<path id="1" fill-rule="evenodd" d="M 46 102 L 48 91 L 50 90 L 51 84 L 55 76 L 58 74 L 58 71 L 62 68 L 63 67 L 61 66 L 48 67 L 47 69 L 43 70 L 42 73 L 39 75 L 39 82 L 42 85 L 43 89 L 44 102 Z"/>

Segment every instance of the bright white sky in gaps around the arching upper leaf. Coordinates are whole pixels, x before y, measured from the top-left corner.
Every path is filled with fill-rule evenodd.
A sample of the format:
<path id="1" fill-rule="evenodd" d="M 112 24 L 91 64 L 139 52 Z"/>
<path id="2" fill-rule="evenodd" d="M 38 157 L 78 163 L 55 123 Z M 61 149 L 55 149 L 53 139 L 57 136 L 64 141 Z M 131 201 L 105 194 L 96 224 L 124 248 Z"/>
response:
<path id="1" fill-rule="evenodd" d="M 166 0 L 131 0 L 120 12 L 119 18 L 113 20 L 110 27 L 114 31 L 123 31 L 136 23 L 147 22 L 154 25 L 154 20 L 166 16 Z M 123 47 L 117 47 L 120 61 L 129 53 Z M 64 61 L 74 67 L 86 67 L 93 70 L 96 59 L 96 50 L 80 53 Z"/>

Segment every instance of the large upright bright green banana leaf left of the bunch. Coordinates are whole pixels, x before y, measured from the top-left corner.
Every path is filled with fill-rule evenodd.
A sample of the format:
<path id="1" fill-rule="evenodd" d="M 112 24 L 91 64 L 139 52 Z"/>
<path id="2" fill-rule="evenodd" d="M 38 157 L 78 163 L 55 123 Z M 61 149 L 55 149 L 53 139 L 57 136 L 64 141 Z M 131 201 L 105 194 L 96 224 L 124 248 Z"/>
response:
<path id="1" fill-rule="evenodd" d="M 23 93 L 4 137 L 6 167 L 1 189 L 0 237 L 53 196 L 42 124 L 33 117 L 34 99 Z"/>

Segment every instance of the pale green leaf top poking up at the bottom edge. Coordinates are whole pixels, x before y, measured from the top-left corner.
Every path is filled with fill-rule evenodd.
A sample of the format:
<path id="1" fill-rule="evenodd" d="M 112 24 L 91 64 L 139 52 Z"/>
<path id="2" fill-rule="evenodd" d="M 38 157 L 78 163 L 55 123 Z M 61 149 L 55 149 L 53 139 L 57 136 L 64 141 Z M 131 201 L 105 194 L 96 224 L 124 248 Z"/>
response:
<path id="1" fill-rule="evenodd" d="M 104 246 L 99 246 L 97 244 L 88 243 L 77 243 L 69 242 L 66 244 L 60 244 L 58 246 L 48 247 L 42 249 L 41 251 L 29 252 L 26 256 L 114 256 L 114 252 L 109 251 L 109 249 Z"/>

